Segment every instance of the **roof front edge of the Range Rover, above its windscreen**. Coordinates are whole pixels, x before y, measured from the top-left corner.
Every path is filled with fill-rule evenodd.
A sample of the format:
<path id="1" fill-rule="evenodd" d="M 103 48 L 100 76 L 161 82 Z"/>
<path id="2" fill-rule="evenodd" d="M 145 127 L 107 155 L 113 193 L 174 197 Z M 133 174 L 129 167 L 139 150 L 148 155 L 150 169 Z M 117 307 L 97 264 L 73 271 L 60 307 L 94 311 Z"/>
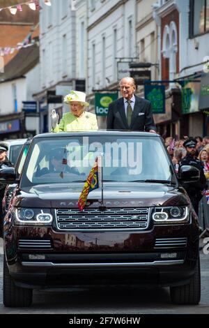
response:
<path id="1" fill-rule="evenodd" d="M 59 132 L 59 133 L 42 133 L 36 135 L 34 138 L 45 138 L 45 137 L 78 137 L 88 135 L 118 135 L 118 136 L 129 136 L 129 137 L 160 137 L 157 133 L 150 133 L 144 131 L 107 131 L 107 130 L 98 130 L 98 131 L 76 131 L 76 132 Z"/>

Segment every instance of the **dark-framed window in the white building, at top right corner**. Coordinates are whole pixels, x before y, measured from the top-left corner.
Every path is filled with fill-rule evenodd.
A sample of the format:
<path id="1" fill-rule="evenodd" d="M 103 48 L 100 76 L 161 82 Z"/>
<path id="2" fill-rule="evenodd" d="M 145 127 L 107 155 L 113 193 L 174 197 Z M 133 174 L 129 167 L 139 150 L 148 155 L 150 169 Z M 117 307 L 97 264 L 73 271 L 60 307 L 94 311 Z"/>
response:
<path id="1" fill-rule="evenodd" d="M 191 0 L 190 24 L 191 36 L 209 31 L 209 0 Z"/>

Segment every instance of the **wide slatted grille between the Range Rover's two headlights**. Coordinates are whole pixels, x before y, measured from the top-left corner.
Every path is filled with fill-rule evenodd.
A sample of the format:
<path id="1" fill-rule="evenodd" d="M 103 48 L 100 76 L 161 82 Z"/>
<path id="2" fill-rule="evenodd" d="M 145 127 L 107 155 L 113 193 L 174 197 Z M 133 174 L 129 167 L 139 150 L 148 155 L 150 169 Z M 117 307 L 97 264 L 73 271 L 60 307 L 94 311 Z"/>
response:
<path id="1" fill-rule="evenodd" d="M 56 209 L 59 230 L 145 230 L 148 228 L 148 208 Z"/>

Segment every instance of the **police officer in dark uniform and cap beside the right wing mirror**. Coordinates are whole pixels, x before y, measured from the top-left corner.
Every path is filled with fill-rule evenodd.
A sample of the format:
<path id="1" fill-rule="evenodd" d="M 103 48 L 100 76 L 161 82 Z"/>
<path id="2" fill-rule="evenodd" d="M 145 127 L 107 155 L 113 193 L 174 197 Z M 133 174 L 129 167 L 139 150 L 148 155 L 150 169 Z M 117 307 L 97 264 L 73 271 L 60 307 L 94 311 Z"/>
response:
<path id="1" fill-rule="evenodd" d="M 180 166 L 183 165 L 192 165 L 199 169 L 200 179 L 197 182 L 190 182 L 188 184 L 183 184 L 183 187 L 187 191 L 189 198 L 192 202 L 196 214 L 198 214 L 199 201 L 201 200 L 203 191 L 206 188 L 206 177 L 203 171 L 203 163 L 196 158 L 196 139 L 190 137 L 184 143 L 183 146 L 187 151 L 187 155 L 180 161 Z"/>

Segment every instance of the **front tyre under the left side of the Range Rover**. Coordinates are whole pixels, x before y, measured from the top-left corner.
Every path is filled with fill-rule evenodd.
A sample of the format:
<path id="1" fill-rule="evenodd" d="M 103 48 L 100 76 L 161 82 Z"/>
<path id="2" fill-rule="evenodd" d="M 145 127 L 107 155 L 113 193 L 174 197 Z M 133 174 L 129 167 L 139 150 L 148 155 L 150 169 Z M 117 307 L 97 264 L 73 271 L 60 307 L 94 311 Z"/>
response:
<path id="1" fill-rule="evenodd" d="M 33 290 L 15 286 L 11 278 L 5 255 L 3 256 L 3 304 L 4 306 L 30 306 L 33 300 Z"/>

